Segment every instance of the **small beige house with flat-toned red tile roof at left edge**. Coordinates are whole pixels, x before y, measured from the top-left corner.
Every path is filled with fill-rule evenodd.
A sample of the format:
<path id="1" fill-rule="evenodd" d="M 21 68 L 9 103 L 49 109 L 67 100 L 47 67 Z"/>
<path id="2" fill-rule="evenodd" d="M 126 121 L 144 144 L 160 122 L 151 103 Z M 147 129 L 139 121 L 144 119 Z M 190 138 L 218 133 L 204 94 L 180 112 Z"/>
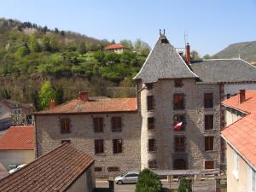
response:
<path id="1" fill-rule="evenodd" d="M 0 172 L 9 166 L 27 164 L 35 159 L 34 126 L 11 126 L 0 137 Z"/>

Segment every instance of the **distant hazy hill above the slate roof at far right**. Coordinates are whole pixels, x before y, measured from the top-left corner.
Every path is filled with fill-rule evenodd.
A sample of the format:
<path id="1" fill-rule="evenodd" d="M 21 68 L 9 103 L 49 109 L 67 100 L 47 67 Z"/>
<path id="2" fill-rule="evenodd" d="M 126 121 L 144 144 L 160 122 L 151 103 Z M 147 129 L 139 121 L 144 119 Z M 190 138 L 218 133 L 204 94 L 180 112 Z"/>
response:
<path id="1" fill-rule="evenodd" d="M 230 44 L 230 46 L 219 51 L 216 55 L 213 55 L 213 57 L 218 59 L 238 58 L 239 52 L 241 59 L 248 62 L 256 61 L 256 41 Z"/>

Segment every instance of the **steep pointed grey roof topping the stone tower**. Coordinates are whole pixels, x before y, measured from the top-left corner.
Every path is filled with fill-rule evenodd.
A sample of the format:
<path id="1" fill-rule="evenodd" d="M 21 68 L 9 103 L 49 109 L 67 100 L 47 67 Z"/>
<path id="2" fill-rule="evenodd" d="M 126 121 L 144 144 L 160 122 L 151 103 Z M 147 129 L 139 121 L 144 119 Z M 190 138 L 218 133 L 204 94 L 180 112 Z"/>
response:
<path id="1" fill-rule="evenodd" d="M 144 62 L 143 67 L 134 79 L 142 79 L 143 83 L 154 83 L 158 79 L 198 78 L 178 55 L 165 35 L 154 45 Z"/>

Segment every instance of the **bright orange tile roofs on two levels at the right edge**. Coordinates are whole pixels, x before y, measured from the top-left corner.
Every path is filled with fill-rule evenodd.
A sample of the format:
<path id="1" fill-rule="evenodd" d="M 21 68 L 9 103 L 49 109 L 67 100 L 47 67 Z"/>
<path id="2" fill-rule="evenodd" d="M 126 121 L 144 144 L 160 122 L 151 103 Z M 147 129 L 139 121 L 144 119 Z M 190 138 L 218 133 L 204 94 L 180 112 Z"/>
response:
<path id="1" fill-rule="evenodd" d="M 239 104 L 238 96 L 223 102 L 224 106 L 246 112 L 247 115 L 221 131 L 222 137 L 256 167 L 256 90 L 246 91 L 246 101 Z"/>

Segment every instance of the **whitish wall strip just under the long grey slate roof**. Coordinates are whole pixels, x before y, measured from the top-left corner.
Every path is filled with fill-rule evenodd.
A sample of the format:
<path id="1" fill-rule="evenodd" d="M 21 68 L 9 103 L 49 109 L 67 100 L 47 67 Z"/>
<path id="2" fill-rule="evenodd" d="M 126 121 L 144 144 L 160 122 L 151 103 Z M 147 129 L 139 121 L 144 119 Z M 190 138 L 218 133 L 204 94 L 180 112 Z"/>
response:
<path id="1" fill-rule="evenodd" d="M 256 84 L 224 84 L 224 95 L 234 96 L 238 90 L 256 90 Z"/>

